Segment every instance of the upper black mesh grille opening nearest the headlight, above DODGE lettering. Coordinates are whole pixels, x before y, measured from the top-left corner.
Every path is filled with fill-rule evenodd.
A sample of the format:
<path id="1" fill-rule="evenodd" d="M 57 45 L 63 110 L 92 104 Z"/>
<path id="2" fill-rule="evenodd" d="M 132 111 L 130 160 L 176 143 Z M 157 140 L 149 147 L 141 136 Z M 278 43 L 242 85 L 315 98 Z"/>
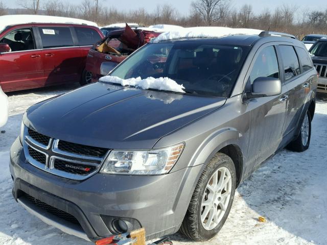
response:
<path id="1" fill-rule="evenodd" d="M 84 156 L 92 156 L 92 157 L 104 157 L 108 151 L 108 149 L 87 146 L 82 144 L 71 143 L 63 140 L 59 140 L 58 149 L 64 152 L 75 153 Z"/>

